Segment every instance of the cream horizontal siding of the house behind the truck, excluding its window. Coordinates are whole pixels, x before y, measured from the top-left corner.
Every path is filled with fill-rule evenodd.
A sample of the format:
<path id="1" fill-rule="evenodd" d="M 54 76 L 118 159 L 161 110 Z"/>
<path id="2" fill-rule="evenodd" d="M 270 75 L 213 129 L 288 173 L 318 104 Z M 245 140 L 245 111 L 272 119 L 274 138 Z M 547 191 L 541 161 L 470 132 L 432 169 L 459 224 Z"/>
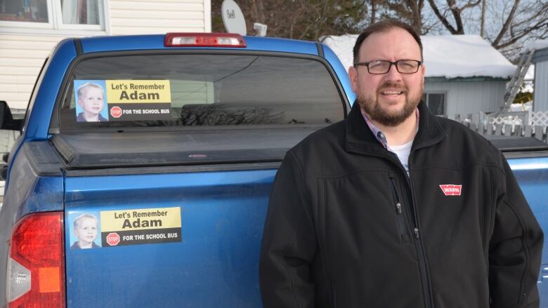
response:
<path id="1" fill-rule="evenodd" d="M 109 0 L 107 33 L 163 34 L 211 32 L 211 0 Z M 0 28 L 0 100 L 12 109 L 26 109 L 34 81 L 56 43 L 67 37 L 89 36 L 67 30 L 2 33 Z M 5 31 L 7 32 L 7 31 Z M 50 33 L 51 32 L 51 33 Z M 62 34 L 61 34 L 62 33 Z M 100 35 L 104 35 L 102 32 Z"/>

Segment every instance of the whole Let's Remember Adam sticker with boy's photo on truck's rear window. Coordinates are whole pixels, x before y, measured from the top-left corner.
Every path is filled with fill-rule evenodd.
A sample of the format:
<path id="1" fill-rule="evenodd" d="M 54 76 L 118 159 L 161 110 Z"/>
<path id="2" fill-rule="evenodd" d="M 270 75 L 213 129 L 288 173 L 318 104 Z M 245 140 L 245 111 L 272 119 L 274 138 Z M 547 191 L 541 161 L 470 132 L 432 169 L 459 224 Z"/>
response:
<path id="1" fill-rule="evenodd" d="M 74 80 L 77 122 L 170 120 L 169 80 Z"/>

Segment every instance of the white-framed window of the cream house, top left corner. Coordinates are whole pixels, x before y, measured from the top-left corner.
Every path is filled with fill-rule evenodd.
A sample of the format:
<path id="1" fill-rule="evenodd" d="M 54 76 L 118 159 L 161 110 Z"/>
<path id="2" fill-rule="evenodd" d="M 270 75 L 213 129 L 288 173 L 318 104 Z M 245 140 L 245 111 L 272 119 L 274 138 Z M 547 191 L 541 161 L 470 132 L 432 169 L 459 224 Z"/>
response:
<path id="1" fill-rule="evenodd" d="M 107 0 L 0 0 L 0 26 L 105 29 Z"/>

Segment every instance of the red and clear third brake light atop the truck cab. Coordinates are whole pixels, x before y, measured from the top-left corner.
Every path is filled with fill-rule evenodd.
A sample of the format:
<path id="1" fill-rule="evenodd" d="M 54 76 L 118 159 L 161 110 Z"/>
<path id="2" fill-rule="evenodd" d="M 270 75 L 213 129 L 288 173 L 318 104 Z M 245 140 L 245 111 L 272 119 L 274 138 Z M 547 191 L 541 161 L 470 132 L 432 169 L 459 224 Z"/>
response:
<path id="1" fill-rule="evenodd" d="M 233 33 L 168 33 L 166 47 L 240 47 L 247 44 L 243 36 Z"/>

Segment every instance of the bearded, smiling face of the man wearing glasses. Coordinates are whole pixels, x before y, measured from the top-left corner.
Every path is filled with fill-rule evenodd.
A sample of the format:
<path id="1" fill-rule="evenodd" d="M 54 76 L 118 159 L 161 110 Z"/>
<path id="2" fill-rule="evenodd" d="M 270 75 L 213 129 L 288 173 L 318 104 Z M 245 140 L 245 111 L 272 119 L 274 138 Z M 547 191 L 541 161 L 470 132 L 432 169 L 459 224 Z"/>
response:
<path id="1" fill-rule="evenodd" d="M 419 44 L 404 29 L 393 28 L 367 36 L 359 62 L 421 60 Z M 398 126 L 414 111 L 424 89 L 424 65 L 415 74 L 400 74 L 395 65 L 386 74 L 370 74 L 367 67 L 348 69 L 352 90 L 367 116 L 384 126 Z"/>

